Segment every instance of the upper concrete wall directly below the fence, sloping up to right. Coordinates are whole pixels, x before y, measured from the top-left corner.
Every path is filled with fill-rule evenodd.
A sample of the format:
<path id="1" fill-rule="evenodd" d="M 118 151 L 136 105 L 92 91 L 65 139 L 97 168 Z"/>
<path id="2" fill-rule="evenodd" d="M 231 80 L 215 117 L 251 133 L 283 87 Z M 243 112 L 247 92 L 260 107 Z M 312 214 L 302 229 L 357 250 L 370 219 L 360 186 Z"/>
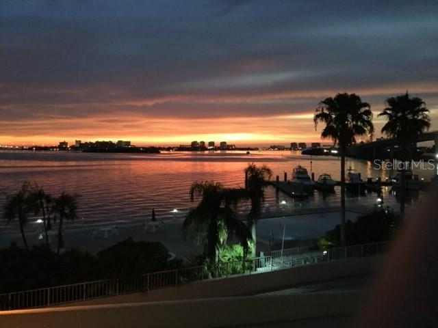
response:
<path id="1" fill-rule="evenodd" d="M 361 273 L 373 273 L 376 271 L 381 257 L 382 256 L 352 258 L 338 262 L 313 264 L 306 267 L 296 267 L 280 271 L 257 273 L 254 275 L 239 275 L 229 278 L 204 280 L 181 286 L 149 290 L 149 292 L 94 299 L 92 301 L 75 303 L 75 305 L 173 301 L 252 295 L 257 292 L 279 289 L 284 286 L 324 281 Z"/>

